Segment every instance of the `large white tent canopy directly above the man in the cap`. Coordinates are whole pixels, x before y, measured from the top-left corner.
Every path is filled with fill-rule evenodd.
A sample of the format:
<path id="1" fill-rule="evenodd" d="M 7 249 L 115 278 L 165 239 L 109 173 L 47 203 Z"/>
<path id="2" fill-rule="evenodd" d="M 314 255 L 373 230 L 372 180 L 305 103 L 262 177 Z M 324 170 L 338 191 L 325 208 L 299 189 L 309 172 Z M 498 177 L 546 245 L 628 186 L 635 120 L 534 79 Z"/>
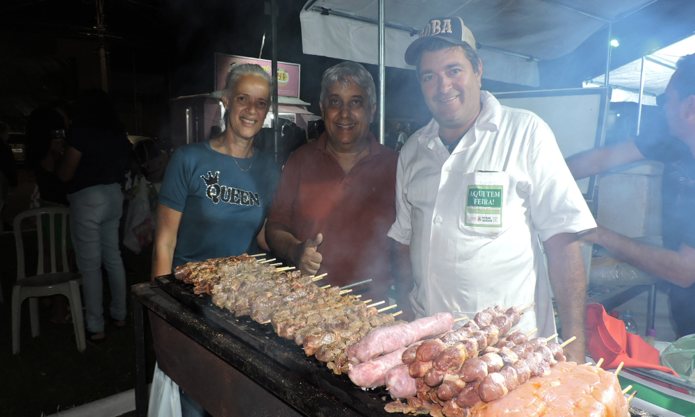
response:
<path id="1" fill-rule="evenodd" d="M 304 54 L 377 64 L 378 1 L 307 1 L 300 13 Z M 384 62 L 412 68 L 403 56 L 428 20 L 459 16 L 479 43 L 484 78 L 537 87 L 537 60 L 569 54 L 609 22 L 649 3 L 653 0 L 384 0 Z"/>

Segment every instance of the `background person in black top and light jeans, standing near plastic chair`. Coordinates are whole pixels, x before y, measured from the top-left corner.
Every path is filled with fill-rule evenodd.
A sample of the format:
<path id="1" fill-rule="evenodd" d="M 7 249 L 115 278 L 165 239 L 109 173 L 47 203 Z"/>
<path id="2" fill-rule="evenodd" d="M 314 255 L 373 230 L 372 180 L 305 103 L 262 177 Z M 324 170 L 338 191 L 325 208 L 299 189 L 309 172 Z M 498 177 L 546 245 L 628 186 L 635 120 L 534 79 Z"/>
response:
<path id="1" fill-rule="evenodd" d="M 125 325 L 126 275 L 118 246 L 118 224 L 123 213 L 120 182 L 130 154 L 131 144 L 106 92 L 82 92 L 56 172 L 67 183 L 70 232 L 82 274 L 88 339 L 94 343 L 106 337 L 102 262 L 111 288 L 113 325 Z"/>

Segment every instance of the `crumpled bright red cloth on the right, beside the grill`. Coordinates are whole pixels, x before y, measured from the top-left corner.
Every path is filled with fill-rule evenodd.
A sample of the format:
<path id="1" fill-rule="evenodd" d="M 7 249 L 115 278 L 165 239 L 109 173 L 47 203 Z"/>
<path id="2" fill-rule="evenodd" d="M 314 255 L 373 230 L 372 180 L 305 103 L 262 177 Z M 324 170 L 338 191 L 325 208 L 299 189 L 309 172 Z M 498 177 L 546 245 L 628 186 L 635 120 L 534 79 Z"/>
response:
<path id="1" fill-rule="evenodd" d="M 603 358 L 601 368 L 615 369 L 621 362 L 625 368 L 661 370 L 678 376 L 673 370 L 659 365 L 659 351 L 636 334 L 628 334 L 625 322 L 606 314 L 601 304 L 587 305 L 587 348 L 591 359 Z"/>

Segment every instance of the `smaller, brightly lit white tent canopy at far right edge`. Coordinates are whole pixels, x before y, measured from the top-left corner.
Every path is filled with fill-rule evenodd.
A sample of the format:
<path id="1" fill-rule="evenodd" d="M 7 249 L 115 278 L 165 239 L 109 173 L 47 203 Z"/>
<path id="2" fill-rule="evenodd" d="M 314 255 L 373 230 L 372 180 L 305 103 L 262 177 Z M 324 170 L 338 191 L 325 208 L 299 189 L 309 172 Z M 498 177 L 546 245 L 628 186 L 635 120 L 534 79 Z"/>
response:
<path id="1" fill-rule="evenodd" d="M 678 58 L 695 53 L 695 35 L 680 40 L 668 47 L 659 49 L 654 54 L 645 56 L 644 60 L 644 96 L 642 104 L 656 105 L 656 96 L 666 90 L 666 86 L 675 72 Z M 639 78 L 641 58 L 627 65 L 612 70 L 608 81 L 614 86 L 611 101 L 639 102 Z M 584 83 L 585 87 L 604 85 L 605 74 Z"/>

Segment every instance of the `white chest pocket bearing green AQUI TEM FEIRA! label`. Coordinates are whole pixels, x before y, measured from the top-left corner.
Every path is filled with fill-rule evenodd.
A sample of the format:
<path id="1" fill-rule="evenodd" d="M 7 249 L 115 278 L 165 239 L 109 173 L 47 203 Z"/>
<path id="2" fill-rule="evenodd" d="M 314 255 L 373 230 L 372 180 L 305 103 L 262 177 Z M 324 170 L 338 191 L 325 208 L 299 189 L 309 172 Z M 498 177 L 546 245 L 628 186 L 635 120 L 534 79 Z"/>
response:
<path id="1" fill-rule="evenodd" d="M 462 181 L 459 228 L 470 236 L 499 236 L 513 217 L 505 213 L 509 195 L 507 172 L 468 172 Z M 507 215 L 505 215 L 507 214 Z"/>

